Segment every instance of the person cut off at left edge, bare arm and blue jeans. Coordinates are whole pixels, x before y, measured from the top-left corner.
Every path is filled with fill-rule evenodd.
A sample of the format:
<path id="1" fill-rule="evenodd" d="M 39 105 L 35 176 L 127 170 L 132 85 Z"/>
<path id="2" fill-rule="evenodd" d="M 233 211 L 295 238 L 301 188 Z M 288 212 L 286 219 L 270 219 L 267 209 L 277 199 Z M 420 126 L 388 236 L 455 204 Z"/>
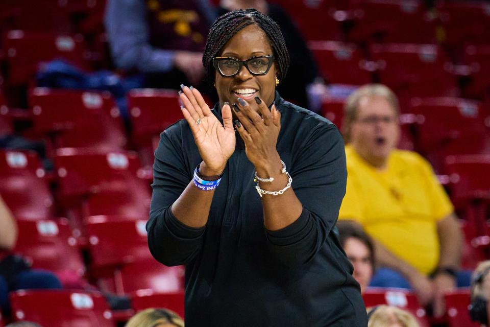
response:
<path id="1" fill-rule="evenodd" d="M 51 272 L 31 270 L 18 255 L 13 255 L 17 241 L 17 225 L 12 213 L 0 197 L 0 307 L 8 310 L 9 291 L 20 289 L 59 289 L 61 283 Z"/>

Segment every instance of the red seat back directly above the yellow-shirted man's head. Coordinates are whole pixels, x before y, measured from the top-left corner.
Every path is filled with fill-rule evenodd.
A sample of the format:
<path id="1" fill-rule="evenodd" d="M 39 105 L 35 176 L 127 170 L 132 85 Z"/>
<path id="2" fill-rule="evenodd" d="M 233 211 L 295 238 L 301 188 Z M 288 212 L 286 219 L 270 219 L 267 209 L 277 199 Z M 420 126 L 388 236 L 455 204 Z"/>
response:
<path id="1" fill-rule="evenodd" d="M 437 45 L 374 44 L 370 48 L 381 83 L 408 97 L 457 96 L 452 63 Z"/>

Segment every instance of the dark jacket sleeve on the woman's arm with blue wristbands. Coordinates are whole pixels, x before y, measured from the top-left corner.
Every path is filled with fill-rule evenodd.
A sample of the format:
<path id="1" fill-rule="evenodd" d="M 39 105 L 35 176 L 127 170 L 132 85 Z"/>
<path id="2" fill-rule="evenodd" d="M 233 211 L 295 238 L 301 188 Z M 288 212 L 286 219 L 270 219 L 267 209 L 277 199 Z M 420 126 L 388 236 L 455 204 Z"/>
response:
<path id="1" fill-rule="evenodd" d="M 155 259 L 166 266 L 176 266 L 188 263 L 199 252 L 205 227 L 186 226 L 171 212 L 172 204 L 189 184 L 191 173 L 187 171 L 180 138 L 167 131 L 161 133 L 155 151 L 153 195 L 146 230 Z"/>

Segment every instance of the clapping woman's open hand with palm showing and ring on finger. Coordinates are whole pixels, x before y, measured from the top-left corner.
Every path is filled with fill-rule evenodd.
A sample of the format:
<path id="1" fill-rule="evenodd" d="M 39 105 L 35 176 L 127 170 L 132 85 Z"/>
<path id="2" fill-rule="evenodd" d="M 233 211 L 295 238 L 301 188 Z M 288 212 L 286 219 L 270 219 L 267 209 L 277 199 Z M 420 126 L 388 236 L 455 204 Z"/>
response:
<path id="1" fill-rule="evenodd" d="M 219 175 L 235 151 L 235 130 L 230 105 L 225 104 L 222 107 L 222 125 L 197 89 L 181 86 L 182 113 L 204 161 L 200 172 L 204 176 Z M 198 120 L 200 124 L 197 123 Z"/>

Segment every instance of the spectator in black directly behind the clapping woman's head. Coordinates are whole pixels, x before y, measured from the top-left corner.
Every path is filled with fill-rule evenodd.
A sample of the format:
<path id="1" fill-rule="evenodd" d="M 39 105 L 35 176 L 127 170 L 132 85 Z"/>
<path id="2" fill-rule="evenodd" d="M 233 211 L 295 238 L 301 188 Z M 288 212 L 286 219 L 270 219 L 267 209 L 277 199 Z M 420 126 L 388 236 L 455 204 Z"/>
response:
<path id="1" fill-rule="evenodd" d="M 318 75 L 318 67 L 313 54 L 306 46 L 293 19 L 280 5 L 268 4 L 265 0 L 221 0 L 218 15 L 247 8 L 255 8 L 274 19 L 284 36 L 289 51 L 289 68 L 277 90 L 286 95 L 286 100 L 315 112 L 320 111 L 321 103 L 313 101 L 318 99 L 312 98 L 320 98 L 320 94 L 326 92 L 327 89 L 323 79 Z"/>

